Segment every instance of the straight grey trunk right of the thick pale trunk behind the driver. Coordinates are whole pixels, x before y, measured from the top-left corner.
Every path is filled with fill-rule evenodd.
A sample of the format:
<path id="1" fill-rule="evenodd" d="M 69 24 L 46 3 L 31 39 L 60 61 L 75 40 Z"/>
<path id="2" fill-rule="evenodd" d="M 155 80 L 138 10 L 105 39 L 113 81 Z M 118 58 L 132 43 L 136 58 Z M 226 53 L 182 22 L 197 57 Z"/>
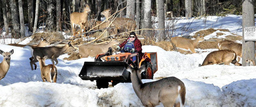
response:
<path id="1" fill-rule="evenodd" d="M 158 0 L 158 29 L 164 29 L 164 0 Z M 158 30 L 159 41 L 165 39 L 164 30 Z"/>

